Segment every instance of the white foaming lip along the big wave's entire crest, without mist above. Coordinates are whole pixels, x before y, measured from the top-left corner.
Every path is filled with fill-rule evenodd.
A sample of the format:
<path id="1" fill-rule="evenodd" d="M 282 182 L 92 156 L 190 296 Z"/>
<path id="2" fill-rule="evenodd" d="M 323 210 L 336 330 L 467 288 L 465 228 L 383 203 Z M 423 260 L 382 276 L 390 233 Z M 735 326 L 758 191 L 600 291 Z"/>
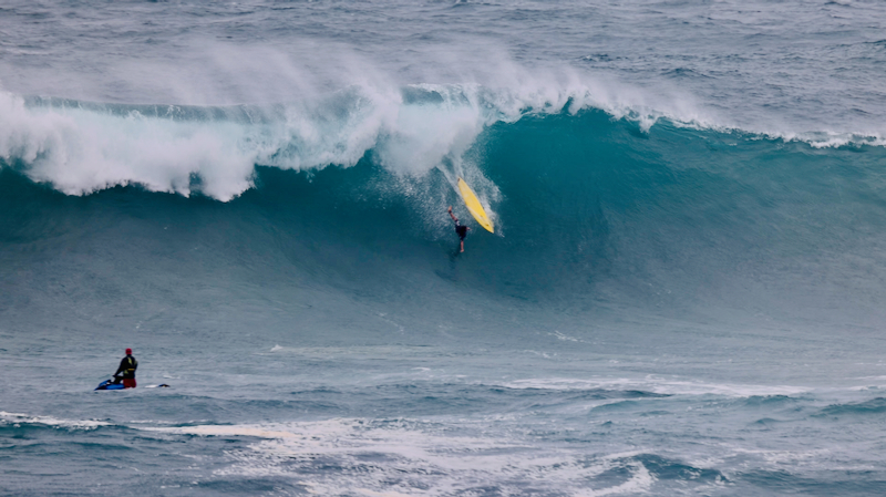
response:
<path id="1" fill-rule="evenodd" d="M 815 148 L 886 144 L 882 136 L 857 133 L 746 131 L 691 103 L 653 100 L 573 71 L 544 77 L 514 71 L 512 86 L 375 83 L 297 102 L 227 107 L 96 104 L 0 92 L 0 157 L 69 195 L 138 185 L 227 201 L 254 186 L 257 165 L 350 167 L 368 153 L 401 176 L 435 168 L 466 176 L 465 168 L 480 165 L 467 164 L 465 153 L 490 126 L 587 110 L 637 123 L 642 134 L 663 122 Z"/>

